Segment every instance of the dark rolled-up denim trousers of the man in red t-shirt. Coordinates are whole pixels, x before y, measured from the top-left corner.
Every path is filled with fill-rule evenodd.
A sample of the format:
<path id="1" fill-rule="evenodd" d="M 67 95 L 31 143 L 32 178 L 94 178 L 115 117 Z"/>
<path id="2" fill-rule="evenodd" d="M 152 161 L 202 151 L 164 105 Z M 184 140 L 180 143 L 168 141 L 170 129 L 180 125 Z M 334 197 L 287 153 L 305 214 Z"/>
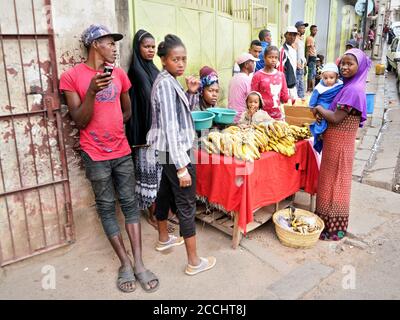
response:
<path id="1" fill-rule="evenodd" d="M 120 234 L 115 215 L 115 191 L 125 216 L 125 224 L 139 223 L 140 212 L 135 198 L 135 179 L 131 155 L 108 161 L 93 161 L 81 151 L 86 177 L 90 180 L 96 198 L 97 213 L 104 232 L 113 238 Z"/>

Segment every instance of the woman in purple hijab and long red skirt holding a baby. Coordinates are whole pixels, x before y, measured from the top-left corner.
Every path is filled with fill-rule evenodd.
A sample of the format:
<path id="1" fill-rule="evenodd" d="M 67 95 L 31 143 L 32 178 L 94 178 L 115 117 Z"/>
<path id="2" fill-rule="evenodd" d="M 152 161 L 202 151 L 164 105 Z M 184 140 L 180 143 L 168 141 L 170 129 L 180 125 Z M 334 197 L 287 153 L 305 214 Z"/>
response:
<path id="1" fill-rule="evenodd" d="M 328 121 L 323 135 L 324 151 L 318 183 L 316 213 L 324 220 L 324 240 L 340 240 L 346 235 L 358 127 L 367 119 L 365 95 L 371 60 L 359 49 L 345 52 L 340 61 L 344 87 L 329 110 L 317 106 L 317 119 Z"/>

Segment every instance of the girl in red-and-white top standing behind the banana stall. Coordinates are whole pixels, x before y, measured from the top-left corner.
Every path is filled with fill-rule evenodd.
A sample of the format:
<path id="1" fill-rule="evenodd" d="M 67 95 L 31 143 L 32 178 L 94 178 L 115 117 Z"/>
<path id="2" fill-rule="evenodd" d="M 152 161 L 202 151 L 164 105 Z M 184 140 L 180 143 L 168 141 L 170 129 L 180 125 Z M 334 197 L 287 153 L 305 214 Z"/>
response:
<path id="1" fill-rule="evenodd" d="M 284 120 L 285 114 L 281 102 L 288 102 L 289 92 L 284 73 L 276 69 L 278 58 L 277 47 L 270 46 L 265 50 L 265 67 L 255 73 L 251 82 L 251 90 L 261 93 L 264 111 L 276 120 Z"/>

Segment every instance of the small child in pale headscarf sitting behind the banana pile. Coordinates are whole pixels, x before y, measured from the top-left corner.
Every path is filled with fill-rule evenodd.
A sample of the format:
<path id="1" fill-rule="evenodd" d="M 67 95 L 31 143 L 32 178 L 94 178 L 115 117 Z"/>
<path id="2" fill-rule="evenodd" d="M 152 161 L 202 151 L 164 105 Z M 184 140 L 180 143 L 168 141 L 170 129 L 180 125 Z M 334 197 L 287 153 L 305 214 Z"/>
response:
<path id="1" fill-rule="evenodd" d="M 270 121 L 272 118 L 268 112 L 262 110 L 263 99 L 259 92 L 252 91 L 246 98 L 247 110 L 242 113 L 239 125 L 259 124 L 264 121 Z"/>

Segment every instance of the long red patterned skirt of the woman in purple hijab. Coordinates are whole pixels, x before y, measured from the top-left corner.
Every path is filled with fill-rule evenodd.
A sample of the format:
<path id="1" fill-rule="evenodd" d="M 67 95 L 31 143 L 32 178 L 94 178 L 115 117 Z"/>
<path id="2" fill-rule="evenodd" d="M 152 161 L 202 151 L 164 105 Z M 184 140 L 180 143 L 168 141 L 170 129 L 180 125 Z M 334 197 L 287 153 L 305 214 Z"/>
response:
<path id="1" fill-rule="evenodd" d="M 323 135 L 316 213 L 325 223 L 322 239 L 339 240 L 349 223 L 354 148 L 360 117 L 347 116 L 329 124 Z"/>

